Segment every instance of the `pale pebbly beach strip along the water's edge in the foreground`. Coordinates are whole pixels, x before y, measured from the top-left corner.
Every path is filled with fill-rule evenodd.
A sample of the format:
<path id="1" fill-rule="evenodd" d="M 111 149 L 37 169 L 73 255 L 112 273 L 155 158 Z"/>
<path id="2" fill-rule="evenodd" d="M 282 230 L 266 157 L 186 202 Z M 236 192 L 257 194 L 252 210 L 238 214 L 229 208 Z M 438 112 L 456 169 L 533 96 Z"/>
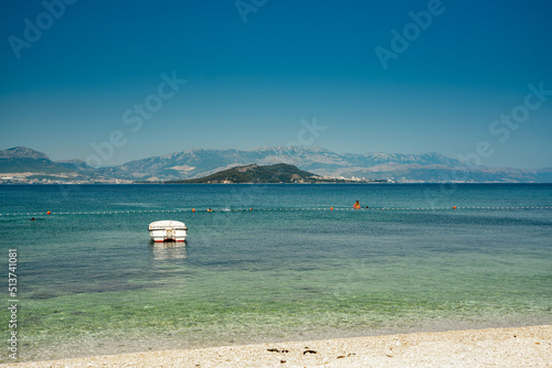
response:
<path id="1" fill-rule="evenodd" d="M 9 367 L 552 367 L 552 325 L 223 346 Z"/>

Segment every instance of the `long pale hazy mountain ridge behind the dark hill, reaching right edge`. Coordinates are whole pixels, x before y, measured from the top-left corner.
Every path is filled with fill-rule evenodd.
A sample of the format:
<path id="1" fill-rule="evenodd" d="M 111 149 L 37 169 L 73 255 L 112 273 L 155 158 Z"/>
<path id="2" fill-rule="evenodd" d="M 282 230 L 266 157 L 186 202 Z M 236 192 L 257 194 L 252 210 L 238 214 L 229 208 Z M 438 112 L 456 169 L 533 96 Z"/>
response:
<path id="1" fill-rule="evenodd" d="M 130 161 L 106 169 L 109 175 L 129 180 L 197 178 L 234 166 L 287 163 L 321 176 L 394 178 L 399 182 L 552 182 L 550 170 L 466 167 L 439 153 L 336 153 L 320 148 L 261 147 L 252 150 L 194 149 Z M 107 174 L 106 174 L 107 175 Z"/>

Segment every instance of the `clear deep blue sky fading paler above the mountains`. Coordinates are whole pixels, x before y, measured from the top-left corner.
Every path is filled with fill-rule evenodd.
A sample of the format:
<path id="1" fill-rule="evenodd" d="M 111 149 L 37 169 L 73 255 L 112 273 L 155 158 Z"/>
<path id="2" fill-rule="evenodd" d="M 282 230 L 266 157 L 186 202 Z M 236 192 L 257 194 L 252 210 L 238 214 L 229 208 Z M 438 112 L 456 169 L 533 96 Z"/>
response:
<path id="1" fill-rule="evenodd" d="M 0 149 L 86 160 L 96 144 L 114 165 L 295 142 L 552 166 L 552 1 L 1 8 Z"/>

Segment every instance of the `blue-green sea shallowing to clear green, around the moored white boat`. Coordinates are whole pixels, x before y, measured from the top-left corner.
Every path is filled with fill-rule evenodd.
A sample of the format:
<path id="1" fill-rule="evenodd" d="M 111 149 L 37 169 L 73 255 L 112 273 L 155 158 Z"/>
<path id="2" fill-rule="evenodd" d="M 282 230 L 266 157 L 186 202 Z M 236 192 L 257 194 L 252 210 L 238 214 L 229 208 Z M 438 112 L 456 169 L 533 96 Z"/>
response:
<path id="1" fill-rule="evenodd" d="M 552 324 L 550 184 L 0 194 L 2 362 Z M 162 219 L 185 243 L 150 241 Z"/>

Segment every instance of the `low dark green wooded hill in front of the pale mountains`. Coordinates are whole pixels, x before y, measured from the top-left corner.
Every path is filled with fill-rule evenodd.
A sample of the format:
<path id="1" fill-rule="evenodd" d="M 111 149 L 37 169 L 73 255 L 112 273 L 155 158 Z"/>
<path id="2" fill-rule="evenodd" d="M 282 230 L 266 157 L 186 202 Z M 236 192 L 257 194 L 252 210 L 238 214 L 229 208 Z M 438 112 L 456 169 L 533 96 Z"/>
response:
<path id="1" fill-rule="evenodd" d="M 275 183 L 316 183 L 322 178 L 312 173 L 301 171 L 294 165 L 285 163 L 259 166 L 257 164 L 236 166 L 223 170 L 215 174 L 174 183 L 209 183 L 209 184 L 275 184 Z"/>

